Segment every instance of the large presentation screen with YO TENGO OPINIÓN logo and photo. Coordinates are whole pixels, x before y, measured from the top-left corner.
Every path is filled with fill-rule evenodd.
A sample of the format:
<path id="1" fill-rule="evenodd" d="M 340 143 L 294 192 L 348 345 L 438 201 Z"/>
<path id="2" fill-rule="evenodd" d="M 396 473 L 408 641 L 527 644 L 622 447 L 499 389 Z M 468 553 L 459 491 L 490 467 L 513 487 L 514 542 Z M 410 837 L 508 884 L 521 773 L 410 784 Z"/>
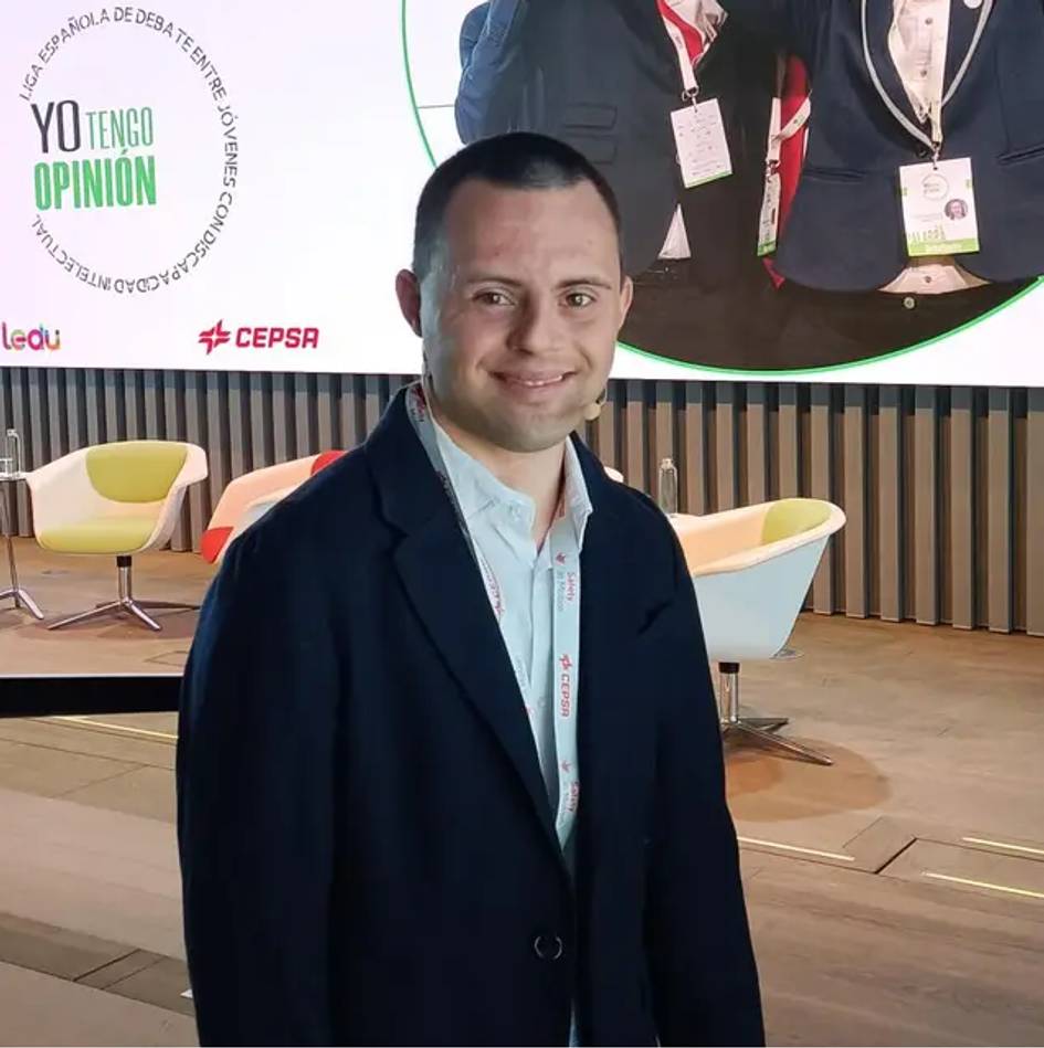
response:
<path id="1" fill-rule="evenodd" d="M 618 378 L 1044 385 L 1044 8 L 947 7 L 4 4 L 0 366 L 415 373 L 421 187 L 529 130 L 619 198 Z"/>

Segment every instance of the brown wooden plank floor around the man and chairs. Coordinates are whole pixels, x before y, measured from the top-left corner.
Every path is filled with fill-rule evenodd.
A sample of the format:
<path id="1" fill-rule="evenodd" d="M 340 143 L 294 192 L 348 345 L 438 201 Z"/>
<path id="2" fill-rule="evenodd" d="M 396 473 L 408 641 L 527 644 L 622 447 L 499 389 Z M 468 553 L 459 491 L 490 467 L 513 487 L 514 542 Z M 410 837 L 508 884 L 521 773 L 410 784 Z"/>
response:
<path id="1" fill-rule="evenodd" d="M 19 557 L 51 615 L 115 586 L 93 560 Z M 208 576 L 152 554 L 136 581 L 190 600 Z M 180 666 L 193 624 L 49 634 L 0 610 L 0 674 Z M 792 644 L 745 669 L 745 703 L 835 765 L 728 759 L 770 1042 L 1044 1044 L 1044 641 L 806 616 Z M 0 720 L 0 1044 L 193 1042 L 176 732 Z"/>

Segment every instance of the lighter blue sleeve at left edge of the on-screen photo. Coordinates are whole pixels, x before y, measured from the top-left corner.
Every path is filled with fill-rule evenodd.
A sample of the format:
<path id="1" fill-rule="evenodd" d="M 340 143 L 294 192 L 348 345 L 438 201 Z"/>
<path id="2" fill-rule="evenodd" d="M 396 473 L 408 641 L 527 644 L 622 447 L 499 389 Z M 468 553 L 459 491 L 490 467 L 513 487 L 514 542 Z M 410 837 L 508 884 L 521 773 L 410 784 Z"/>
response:
<path id="1" fill-rule="evenodd" d="M 471 10 L 461 27 L 461 82 L 454 114 L 467 144 L 510 130 L 505 110 L 514 96 L 517 30 L 528 0 L 491 0 Z"/>

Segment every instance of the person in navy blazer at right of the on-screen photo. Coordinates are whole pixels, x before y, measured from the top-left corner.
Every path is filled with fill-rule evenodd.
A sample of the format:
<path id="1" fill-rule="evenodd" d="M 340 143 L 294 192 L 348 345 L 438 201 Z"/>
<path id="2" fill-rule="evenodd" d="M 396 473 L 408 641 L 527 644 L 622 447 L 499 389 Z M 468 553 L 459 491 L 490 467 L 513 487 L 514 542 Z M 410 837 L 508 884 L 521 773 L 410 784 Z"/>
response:
<path id="1" fill-rule="evenodd" d="M 857 359 L 910 346 L 974 319 L 1044 272 L 1040 3 L 721 3 L 799 54 L 823 99 L 812 107 L 777 257 L 790 307 L 781 353 L 831 346 Z M 900 169 L 934 155 L 955 189 L 966 176 L 948 165 L 970 162 L 979 248 L 910 257 L 907 234 L 917 226 L 904 221 Z M 963 218 L 960 203 L 947 218 Z"/>

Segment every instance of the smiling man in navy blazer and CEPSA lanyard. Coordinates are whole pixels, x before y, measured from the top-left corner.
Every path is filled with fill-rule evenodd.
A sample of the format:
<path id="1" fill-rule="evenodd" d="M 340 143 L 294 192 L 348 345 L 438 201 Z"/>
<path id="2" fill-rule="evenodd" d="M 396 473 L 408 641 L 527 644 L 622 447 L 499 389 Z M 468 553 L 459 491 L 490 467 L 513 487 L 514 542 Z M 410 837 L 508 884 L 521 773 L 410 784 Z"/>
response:
<path id="1" fill-rule="evenodd" d="M 233 546 L 186 670 L 201 1039 L 760 1044 L 693 586 L 570 436 L 631 294 L 612 193 L 477 144 L 397 290 L 423 387 Z"/>

